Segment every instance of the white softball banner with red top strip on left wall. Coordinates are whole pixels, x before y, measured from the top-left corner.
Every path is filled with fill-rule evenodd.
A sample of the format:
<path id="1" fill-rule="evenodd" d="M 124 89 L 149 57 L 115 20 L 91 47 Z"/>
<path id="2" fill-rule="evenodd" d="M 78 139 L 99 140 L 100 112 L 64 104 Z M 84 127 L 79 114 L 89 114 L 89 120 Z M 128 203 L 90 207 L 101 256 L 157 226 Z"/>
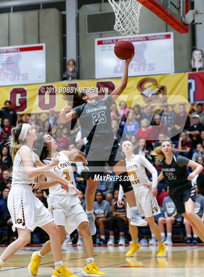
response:
<path id="1" fill-rule="evenodd" d="M 0 86 L 46 82 L 45 44 L 0 47 Z"/>

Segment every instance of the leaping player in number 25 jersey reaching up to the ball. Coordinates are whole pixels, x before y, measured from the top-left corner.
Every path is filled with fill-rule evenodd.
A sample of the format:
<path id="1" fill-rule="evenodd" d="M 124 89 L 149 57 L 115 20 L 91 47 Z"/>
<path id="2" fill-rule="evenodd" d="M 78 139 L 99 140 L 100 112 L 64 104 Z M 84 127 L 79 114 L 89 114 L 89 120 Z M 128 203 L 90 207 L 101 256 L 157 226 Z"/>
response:
<path id="1" fill-rule="evenodd" d="M 138 213 L 133 187 L 130 181 L 127 181 L 128 175 L 125 161 L 119 143 L 113 135 L 110 116 L 110 107 L 127 85 L 128 67 L 133 56 L 125 61 L 121 82 L 110 95 L 100 101 L 98 93 L 74 93 L 74 95 L 72 94 L 74 96 L 73 107 L 76 108 L 71 111 L 72 107 L 67 106 L 60 113 L 60 121 L 62 123 L 78 117 L 82 128 L 82 137 L 87 138 L 85 154 L 89 172 L 87 174 L 85 202 L 92 235 L 96 233 L 93 203 L 98 186 L 98 181 L 95 181 L 94 177 L 95 175 L 103 174 L 106 162 L 109 166 L 113 166 L 113 171 L 122 180 L 120 185 L 123 187 L 132 214 L 131 224 L 137 226 L 147 225 L 147 222 L 142 220 Z M 67 96 L 69 95 L 66 95 L 68 100 Z M 79 106 L 81 102 L 84 102 L 84 104 Z"/>

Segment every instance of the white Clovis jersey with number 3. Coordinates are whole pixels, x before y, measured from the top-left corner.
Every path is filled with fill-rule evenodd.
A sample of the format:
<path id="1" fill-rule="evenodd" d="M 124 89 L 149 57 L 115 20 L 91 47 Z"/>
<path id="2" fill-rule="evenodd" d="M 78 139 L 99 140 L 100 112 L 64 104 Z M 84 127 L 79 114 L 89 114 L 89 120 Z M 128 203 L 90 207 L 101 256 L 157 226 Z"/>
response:
<path id="1" fill-rule="evenodd" d="M 71 166 L 71 163 L 68 159 L 68 157 L 63 153 L 63 151 L 58 153 L 59 155 L 59 164 L 57 166 L 54 166 L 50 169 L 51 172 L 57 173 L 60 177 L 65 178 L 67 181 L 69 181 L 72 185 L 75 185 L 74 180 L 74 173 Z M 50 159 L 43 160 L 43 163 L 49 164 L 51 162 Z M 47 177 L 47 181 L 51 181 L 53 179 Z M 69 191 L 67 191 L 62 188 L 62 186 L 59 185 L 53 185 L 49 188 L 50 196 L 54 195 L 75 195 L 76 191 L 72 188 L 69 188 Z"/>

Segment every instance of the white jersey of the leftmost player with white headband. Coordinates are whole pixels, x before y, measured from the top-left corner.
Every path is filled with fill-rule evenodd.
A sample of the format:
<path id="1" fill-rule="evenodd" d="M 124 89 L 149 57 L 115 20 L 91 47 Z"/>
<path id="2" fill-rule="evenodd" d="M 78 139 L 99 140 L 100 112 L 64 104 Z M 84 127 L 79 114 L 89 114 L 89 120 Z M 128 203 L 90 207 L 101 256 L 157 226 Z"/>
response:
<path id="1" fill-rule="evenodd" d="M 29 178 L 26 175 L 25 172 L 25 168 L 23 166 L 23 162 L 19 156 L 19 151 L 22 148 L 25 148 L 28 146 L 21 146 L 21 148 L 17 151 L 16 156 L 14 158 L 14 165 L 13 165 L 13 172 L 12 172 L 12 187 L 13 186 L 22 186 L 22 185 L 26 185 L 27 187 L 29 187 L 31 190 L 34 189 L 34 186 L 36 185 L 37 182 L 37 178 Z M 35 166 L 35 156 L 34 156 L 34 152 L 31 150 L 31 156 L 32 156 L 32 167 L 36 167 Z"/>

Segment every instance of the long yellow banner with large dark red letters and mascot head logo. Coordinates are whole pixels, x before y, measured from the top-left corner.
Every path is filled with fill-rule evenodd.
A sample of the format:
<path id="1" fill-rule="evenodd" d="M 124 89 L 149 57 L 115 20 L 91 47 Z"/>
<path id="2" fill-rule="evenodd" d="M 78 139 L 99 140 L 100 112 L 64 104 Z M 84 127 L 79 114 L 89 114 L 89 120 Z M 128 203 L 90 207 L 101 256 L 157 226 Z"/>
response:
<path id="1" fill-rule="evenodd" d="M 79 92 L 97 91 L 100 95 L 108 95 L 119 86 L 118 79 L 75 80 L 27 86 L 9 86 L 0 88 L 0 107 L 4 101 L 10 100 L 12 108 L 19 114 L 61 111 L 67 105 L 62 92 L 76 89 Z M 69 85 L 69 87 L 67 87 Z M 188 74 L 168 74 L 130 77 L 124 92 L 119 96 L 117 104 L 124 100 L 128 107 L 139 104 L 144 108 L 147 104 L 160 109 L 168 102 L 172 107 L 187 102 Z"/>

